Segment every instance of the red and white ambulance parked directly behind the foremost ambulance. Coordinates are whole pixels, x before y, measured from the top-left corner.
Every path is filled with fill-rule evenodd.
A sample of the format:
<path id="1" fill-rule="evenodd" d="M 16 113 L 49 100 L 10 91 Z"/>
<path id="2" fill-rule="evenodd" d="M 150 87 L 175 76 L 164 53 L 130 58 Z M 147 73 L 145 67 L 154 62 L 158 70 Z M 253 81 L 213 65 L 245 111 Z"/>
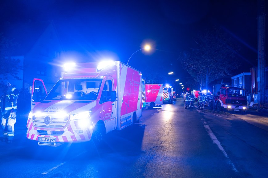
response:
<path id="1" fill-rule="evenodd" d="M 161 105 L 163 105 L 163 85 L 145 84 L 145 106 L 152 109 Z"/>

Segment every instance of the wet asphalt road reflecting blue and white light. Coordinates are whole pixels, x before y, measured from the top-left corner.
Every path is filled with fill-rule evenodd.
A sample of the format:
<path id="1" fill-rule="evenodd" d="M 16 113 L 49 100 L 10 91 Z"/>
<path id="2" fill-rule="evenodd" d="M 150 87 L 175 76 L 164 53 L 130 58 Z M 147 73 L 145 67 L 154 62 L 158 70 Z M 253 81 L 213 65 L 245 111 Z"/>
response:
<path id="1" fill-rule="evenodd" d="M 267 177 L 268 118 L 184 109 L 183 100 L 146 109 L 139 124 L 91 142 L 42 147 L 26 139 L 19 114 L 11 144 L 0 142 L 1 177 Z M 2 140 L 2 133 L 0 133 Z"/>

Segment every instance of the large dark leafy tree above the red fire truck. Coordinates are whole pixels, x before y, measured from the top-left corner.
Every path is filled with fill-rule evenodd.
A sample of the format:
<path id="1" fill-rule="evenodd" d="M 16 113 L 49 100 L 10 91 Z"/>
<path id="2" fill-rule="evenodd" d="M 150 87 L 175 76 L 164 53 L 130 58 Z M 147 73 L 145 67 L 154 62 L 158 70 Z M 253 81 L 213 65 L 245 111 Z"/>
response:
<path id="1" fill-rule="evenodd" d="M 195 40 L 197 46 L 190 52 L 183 52 L 179 60 L 185 70 L 200 83 L 209 83 L 225 75 L 231 75 L 239 67 L 235 54 L 239 47 L 232 39 L 219 29 L 213 28 L 199 35 Z"/>

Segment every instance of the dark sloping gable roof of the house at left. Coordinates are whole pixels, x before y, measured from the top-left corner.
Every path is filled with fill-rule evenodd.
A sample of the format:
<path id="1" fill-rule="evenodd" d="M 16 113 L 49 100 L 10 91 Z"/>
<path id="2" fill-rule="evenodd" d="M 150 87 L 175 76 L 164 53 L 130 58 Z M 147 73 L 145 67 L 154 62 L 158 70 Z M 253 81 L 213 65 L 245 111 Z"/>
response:
<path id="1" fill-rule="evenodd" d="M 53 21 L 36 21 L 28 23 L 6 24 L 3 28 L 3 35 L 19 44 L 14 55 L 23 56 L 33 47 L 42 33 Z"/>

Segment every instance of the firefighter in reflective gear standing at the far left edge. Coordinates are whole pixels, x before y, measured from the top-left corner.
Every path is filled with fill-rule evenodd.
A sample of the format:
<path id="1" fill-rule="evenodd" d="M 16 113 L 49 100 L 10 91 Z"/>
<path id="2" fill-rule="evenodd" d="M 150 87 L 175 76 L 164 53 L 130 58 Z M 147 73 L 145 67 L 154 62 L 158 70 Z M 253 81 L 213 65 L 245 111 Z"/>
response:
<path id="1" fill-rule="evenodd" d="M 11 143 L 14 137 L 14 124 L 16 123 L 17 100 L 19 91 L 10 83 L 6 83 L 7 90 L 2 96 L 2 129 L 3 141 Z"/>

